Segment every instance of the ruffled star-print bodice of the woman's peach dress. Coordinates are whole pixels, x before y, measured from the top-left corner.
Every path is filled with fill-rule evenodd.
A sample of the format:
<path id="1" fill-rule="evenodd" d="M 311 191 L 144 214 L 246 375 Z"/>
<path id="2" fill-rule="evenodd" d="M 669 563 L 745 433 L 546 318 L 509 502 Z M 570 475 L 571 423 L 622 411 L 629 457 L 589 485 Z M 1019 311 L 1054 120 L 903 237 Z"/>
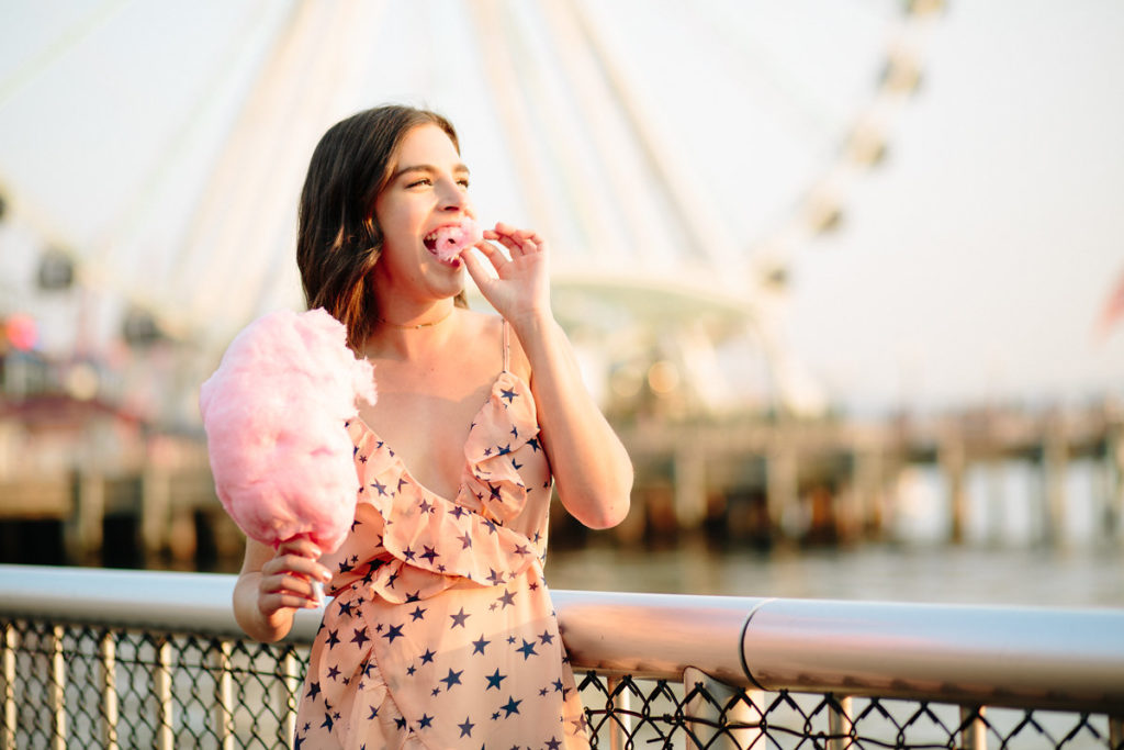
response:
<path id="1" fill-rule="evenodd" d="M 502 371 L 478 412 L 452 500 L 415 480 L 362 421 L 350 422 L 347 430 L 362 485 L 356 525 L 366 525 L 369 533 L 381 525 L 373 540 L 380 559 L 370 568 L 359 566 L 359 559 L 338 562 L 332 581 L 336 591 L 344 593 L 360 572 L 370 589 L 392 603 L 427 598 L 463 580 L 496 586 L 522 573 L 542 553 L 504 525 L 527 501 L 515 453 L 528 444 L 534 453 L 541 451 L 534 398 L 518 376 Z M 346 553 L 348 546 L 341 551 Z"/>

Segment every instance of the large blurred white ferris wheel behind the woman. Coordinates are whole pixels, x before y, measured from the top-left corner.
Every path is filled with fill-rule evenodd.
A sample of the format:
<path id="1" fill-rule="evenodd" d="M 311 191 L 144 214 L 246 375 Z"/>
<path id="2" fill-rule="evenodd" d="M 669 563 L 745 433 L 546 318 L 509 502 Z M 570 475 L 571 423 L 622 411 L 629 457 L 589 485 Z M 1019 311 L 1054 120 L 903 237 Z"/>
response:
<path id="1" fill-rule="evenodd" d="M 606 396 L 723 408 L 744 401 L 749 372 L 751 398 L 815 412 L 822 396 L 783 335 L 791 257 L 846 220 L 850 186 L 892 151 L 942 10 L 27 10 L 0 45 L 0 222 L 36 246 L 39 292 L 105 300 L 94 349 L 124 336 L 220 351 L 257 315 L 302 305 L 294 211 L 319 135 L 374 103 L 428 106 L 457 126 L 481 219 L 551 238 L 556 314 Z M 12 289 L 0 314 L 53 304 L 35 291 Z"/>

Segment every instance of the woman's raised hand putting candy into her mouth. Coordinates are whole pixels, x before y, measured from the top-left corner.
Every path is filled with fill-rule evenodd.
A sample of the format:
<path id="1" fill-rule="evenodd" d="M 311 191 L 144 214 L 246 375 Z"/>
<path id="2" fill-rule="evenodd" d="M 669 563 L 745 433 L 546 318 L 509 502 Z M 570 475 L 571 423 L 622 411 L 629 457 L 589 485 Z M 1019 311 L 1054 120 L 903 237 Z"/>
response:
<path id="1" fill-rule="evenodd" d="M 508 255 L 493 245 L 498 242 Z M 496 311 L 507 320 L 518 323 L 550 313 L 550 268 L 546 241 L 531 229 L 517 229 L 499 223 L 484 229 L 484 241 L 473 245 L 483 253 L 496 271 L 493 277 L 471 247 L 461 254 L 469 275 Z"/>

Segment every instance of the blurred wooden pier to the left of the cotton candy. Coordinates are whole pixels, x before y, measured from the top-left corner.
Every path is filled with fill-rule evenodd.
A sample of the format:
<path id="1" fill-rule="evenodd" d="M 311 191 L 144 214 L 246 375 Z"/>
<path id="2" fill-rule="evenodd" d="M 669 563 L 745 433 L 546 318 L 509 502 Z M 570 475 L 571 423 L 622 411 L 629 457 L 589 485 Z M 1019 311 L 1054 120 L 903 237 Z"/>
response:
<path id="1" fill-rule="evenodd" d="M 187 567 L 242 546 L 200 435 L 62 395 L 0 401 L 0 561 L 43 564 Z"/>

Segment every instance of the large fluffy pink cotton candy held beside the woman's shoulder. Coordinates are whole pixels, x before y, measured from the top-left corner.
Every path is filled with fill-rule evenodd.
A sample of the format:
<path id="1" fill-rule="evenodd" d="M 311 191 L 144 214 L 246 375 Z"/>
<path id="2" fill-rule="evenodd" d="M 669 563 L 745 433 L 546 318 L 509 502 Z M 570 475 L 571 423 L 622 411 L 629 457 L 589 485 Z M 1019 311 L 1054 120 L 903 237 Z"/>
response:
<path id="1" fill-rule="evenodd" d="M 215 488 L 247 536 L 343 543 L 359 478 L 344 423 L 374 403 L 373 368 L 324 309 L 259 318 L 230 343 L 199 391 Z"/>

